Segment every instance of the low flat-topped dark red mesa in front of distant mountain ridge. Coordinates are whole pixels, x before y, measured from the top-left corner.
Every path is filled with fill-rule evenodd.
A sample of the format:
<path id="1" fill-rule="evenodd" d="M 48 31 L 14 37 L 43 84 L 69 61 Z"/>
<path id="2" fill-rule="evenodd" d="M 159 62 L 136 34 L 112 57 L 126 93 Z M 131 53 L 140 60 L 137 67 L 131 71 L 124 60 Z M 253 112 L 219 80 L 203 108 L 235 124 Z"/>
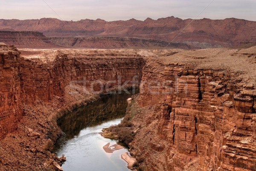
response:
<path id="1" fill-rule="evenodd" d="M 19 48 L 180 48 L 198 49 L 186 43 L 118 37 L 45 37 L 41 32 L 0 31 L 0 42 Z"/>

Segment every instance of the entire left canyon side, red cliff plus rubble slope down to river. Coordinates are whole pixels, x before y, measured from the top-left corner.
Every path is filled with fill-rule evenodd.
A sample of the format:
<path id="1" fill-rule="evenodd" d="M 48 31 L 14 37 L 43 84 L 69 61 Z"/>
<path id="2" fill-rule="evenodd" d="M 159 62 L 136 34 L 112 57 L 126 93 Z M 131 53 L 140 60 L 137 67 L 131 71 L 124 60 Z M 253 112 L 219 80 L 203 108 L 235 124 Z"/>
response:
<path id="1" fill-rule="evenodd" d="M 1 46 L 0 171 L 55 170 L 56 119 L 99 93 L 138 86 L 145 64 L 122 51 L 26 50 Z"/>

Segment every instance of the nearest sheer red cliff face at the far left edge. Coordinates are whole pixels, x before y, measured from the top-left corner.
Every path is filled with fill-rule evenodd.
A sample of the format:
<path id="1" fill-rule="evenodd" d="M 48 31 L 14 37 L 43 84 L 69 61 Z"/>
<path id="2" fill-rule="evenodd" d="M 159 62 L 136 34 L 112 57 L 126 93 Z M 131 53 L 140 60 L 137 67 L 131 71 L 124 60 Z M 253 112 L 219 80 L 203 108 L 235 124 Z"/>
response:
<path id="1" fill-rule="evenodd" d="M 22 116 L 19 64 L 15 47 L 0 45 L 0 139 L 17 128 Z"/>

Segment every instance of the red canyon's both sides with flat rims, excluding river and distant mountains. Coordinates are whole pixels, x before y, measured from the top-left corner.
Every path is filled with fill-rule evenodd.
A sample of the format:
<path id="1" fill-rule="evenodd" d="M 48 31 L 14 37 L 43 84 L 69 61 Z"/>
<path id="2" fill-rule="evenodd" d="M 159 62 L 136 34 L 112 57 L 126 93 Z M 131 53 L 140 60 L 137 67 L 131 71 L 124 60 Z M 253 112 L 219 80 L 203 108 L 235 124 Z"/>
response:
<path id="1" fill-rule="evenodd" d="M 1 171 L 61 165 L 56 119 L 120 85 L 140 87 L 129 146 L 145 170 L 256 170 L 256 46 L 0 49 Z"/>

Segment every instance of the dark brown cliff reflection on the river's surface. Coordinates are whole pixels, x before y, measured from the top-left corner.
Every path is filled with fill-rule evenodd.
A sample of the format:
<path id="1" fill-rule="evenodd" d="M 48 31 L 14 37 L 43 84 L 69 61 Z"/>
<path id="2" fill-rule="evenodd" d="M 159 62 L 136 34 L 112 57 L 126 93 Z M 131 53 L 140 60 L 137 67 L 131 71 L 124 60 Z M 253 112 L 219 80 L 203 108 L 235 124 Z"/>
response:
<path id="1" fill-rule="evenodd" d="M 137 92 L 136 92 L 137 93 Z M 57 123 L 67 139 L 79 135 L 80 130 L 125 116 L 127 101 L 131 94 L 106 94 L 87 106 L 67 113 Z"/>

